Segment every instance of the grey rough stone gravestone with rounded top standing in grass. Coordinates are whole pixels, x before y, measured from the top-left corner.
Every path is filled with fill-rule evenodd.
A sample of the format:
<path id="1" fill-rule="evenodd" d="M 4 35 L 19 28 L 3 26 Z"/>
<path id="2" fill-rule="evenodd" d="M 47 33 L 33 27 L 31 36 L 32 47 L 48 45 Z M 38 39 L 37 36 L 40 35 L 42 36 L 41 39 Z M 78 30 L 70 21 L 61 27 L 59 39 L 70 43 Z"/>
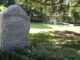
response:
<path id="1" fill-rule="evenodd" d="M 0 46 L 3 50 L 29 45 L 29 19 L 25 11 L 18 5 L 11 5 L 0 14 Z"/>

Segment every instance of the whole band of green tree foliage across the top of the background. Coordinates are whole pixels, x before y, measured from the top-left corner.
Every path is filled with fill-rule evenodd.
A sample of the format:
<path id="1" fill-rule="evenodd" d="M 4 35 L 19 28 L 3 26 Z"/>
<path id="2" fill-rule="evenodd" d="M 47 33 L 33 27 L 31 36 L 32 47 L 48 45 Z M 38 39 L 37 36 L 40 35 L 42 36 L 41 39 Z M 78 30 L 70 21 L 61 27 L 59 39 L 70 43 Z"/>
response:
<path id="1" fill-rule="evenodd" d="M 79 22 L 80 0 L 0 0 L 0 5 L 20 4 L 29 16 L 39 13 L 45 17 L 58 12 L 65 22 Z"/>

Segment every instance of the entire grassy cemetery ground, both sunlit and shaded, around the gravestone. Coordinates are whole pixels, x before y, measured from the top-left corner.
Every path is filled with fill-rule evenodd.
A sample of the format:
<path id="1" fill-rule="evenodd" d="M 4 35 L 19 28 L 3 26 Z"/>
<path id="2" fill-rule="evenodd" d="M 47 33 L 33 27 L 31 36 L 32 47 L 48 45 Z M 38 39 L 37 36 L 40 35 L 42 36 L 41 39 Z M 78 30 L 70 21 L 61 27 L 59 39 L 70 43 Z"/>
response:
<path id="1" fill-rule="evenodd" d="M 79 26 L 32 23 L 30 29 L 30 46 L 1 51 L 0 60 L 80 60 Z"/>

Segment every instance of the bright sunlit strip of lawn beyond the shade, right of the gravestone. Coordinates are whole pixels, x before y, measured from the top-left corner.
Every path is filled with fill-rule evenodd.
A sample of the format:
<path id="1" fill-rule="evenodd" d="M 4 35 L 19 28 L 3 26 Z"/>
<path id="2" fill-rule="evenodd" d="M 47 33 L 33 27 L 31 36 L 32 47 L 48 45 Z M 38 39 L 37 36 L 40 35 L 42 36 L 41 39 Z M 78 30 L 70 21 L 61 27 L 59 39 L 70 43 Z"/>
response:
<path id="1" fill-rule="evenodd" d="M 80 26 L 74 25 L 53 25 L 45 23 L 31 23 L 30 33 L 47 32 L 47 31 L 74 31 L 80 32 Z"/>

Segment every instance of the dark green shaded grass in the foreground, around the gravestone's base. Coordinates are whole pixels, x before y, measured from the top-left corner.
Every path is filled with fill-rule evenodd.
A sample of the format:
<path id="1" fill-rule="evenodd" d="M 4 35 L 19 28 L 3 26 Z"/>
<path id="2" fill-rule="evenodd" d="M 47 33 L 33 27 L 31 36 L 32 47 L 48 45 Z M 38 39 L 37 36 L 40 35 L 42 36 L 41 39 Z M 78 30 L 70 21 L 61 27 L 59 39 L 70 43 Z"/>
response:
<path id="1" fill-rule="evenodd" d="M 80 60 L 80 53 L 76 49 L 49 45 L 16 49 L 10 53 L 0 52 L 0 60 Z"/>

